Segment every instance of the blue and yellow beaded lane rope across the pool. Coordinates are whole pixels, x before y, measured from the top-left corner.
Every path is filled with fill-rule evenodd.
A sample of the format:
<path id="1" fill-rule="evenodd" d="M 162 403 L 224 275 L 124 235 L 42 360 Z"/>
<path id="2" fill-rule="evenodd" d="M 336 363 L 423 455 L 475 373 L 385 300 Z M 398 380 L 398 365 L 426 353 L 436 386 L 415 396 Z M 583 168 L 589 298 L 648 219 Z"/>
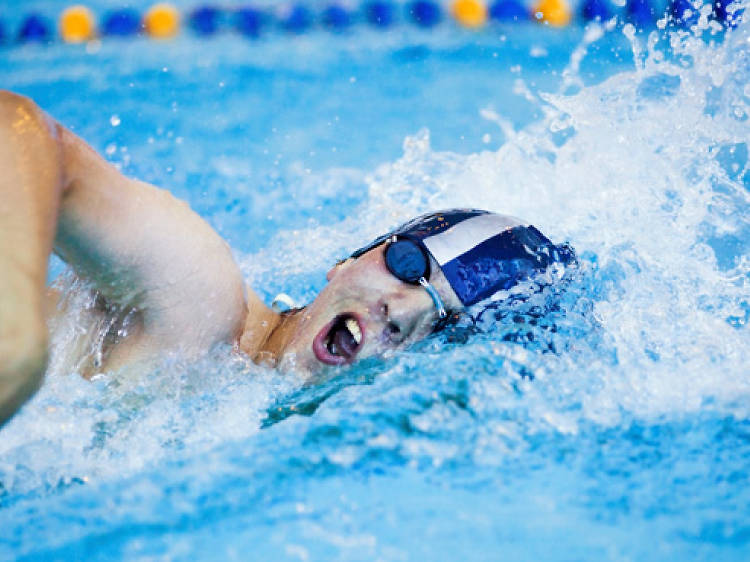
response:
<path id="1" fill-rule="evenodd" d="M 626 0 L 623 21 L 637 28 L 654 25 L 659 12 L 651 4 L 654 0 Z M 83 5 L 74 5 L 62 11 L 58 19 L 56 36 L 50 20 L 38 12 L 26 14 L 16 33 L 11 36 L 0 19 L 0 43 L 50 43 L 59 37 L 66 43 L 84 43 L 100 37 L 134 37 L 146 35 L 154 39 L 177 36 L 186 22 L 199 36 L 234 30 L 246 37 L 258 37 L 261 32 L 279 29 L 289 33 L 305 33 L 316 27 L 332 32 L 345 32 L 355 24 L 367 24 L 375 29 L 389 29 L 398 23 L 407 23 L 429 29 L 446 19 L 461 27 L 480 29 L 492 22 L 519 22 L 533 20 L 553 27 L 567 26 L 573 21 L 606 21 L 615 15 L 612 0 L 583 0 L 574 12 L 568 0 L 533 0 L 529 7 L 520 0 L 409 0 L 395 3 L 388 0 L 370 0 L 358 8 L 350 4 L 331 2 L 318 11 L 303 3 L 287 4 L 278 8 L 245 6 L 220 8 L 198 6 L 182 14 L 167 2 L 154 4 L 143 14 L 134 8 L 106 11 L 97 22 L 94 13 Z M 694 25 L 700 17 L 700 8 L 691 0 L 669 0 L 667 10 L 678 24 Z M 742 10 L 732 0 L 713 0 L 712 17 L 728 26 L 734 26 L 742 17 Z"/>

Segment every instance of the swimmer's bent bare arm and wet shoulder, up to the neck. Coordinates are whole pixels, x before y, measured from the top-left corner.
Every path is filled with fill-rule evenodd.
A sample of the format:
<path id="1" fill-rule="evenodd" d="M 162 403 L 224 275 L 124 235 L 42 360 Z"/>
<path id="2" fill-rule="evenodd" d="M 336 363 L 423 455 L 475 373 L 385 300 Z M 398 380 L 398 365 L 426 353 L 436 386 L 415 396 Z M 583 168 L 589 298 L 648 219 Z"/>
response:
<path id="1" fill-rule="evenodd" d="M 235 341 L 246 306 L 227 244 L 166 191 L 124 177 L 33 102 L 0 91 L 0 424 L 46 363 L 50 249 L 140 325 L 110 367 Z"/>

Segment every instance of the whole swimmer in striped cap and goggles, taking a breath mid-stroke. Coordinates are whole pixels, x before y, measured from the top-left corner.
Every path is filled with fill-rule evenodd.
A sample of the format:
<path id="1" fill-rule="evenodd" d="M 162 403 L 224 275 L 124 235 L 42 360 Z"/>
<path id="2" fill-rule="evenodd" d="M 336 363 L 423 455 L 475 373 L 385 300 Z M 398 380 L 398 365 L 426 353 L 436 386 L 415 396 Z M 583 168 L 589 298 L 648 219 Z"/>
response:
<path id="1" fill-rule="evenodd" d="M 0 91 L 0 425 L 40 386 L 54 252 L 101 314 L 127 312 L 96 371 L 229 343 L 309 376 L 400 349 L 572 253 L 518 219 L 454 209 L 355 251 L 308 306 L 278 313 L 245 286 L 224 240 L 186 203 L 123 176 L 23 96 Z"/>

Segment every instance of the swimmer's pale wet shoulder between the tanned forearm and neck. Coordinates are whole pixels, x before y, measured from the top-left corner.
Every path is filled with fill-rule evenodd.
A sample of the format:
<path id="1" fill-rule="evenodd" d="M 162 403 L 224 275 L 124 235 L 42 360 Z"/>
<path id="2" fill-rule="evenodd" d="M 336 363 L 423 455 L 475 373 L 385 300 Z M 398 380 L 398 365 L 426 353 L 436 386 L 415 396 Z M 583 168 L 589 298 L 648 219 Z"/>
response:
<path id="1" fill-rule="evenodd" d="M 228 244 L 169 191 L 125 177 L 72 132 L 61 136 L 55 251 L 110 302 L 139 311 L 141 354 L 236 339 L 246 297 Z"/>

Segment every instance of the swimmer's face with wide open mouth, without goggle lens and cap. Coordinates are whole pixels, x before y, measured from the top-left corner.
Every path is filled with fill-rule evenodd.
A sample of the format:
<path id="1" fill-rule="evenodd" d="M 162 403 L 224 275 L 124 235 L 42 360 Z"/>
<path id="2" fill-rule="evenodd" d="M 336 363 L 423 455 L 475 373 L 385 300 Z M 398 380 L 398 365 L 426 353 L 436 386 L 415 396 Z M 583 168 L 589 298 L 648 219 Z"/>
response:
<path id="1" fill-rule="evenodd" d="M 401 349 L 428 336 L 438 314 L 427 291 L 388 271 L 384 246 L 328 272 L 326 285 L 301 312 L 281 357 L 282 368 L 319 372 Z M 448 310 L 461 303 L 435 262 L 429 281 Z"/>

